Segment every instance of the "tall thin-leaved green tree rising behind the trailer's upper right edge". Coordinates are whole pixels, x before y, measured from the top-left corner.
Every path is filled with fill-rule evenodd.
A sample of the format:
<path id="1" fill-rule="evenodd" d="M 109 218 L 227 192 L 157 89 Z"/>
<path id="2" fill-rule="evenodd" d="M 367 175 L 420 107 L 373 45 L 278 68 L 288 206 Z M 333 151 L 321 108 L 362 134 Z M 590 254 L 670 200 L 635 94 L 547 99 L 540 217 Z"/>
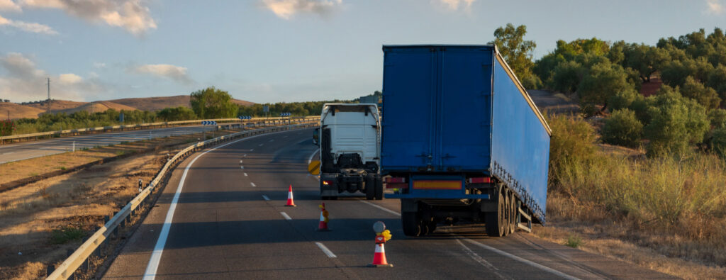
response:
<path id="1" fill-rule="evenodd" d="M 514 27 L 507 23 L 505 27 L 494 30 L 494 44 L 504 57 L 507 64 L 512 67 L 515 75 L 525 88 L 536 88 L 542 81 L 532 73 L 532 52 L 537 48 L 534 41 L 524 40 L 527 33 L 526 25 Z"/>

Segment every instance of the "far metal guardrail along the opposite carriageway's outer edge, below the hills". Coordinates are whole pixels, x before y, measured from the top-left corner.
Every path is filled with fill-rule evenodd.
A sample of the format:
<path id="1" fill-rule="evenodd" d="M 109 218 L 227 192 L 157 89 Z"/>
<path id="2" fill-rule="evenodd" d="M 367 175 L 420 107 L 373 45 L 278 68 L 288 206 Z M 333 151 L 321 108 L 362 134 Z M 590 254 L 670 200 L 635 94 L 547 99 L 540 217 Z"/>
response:
<path id="1" fill-rule="evenodd" d="M 229 119 L 213 119 L 212 121 L 216 121 L 217 123 L 256 123 L 256 124 L 280 124 L 284 121 L 300 121 L 300 120 L 306 120 L 310 118 L 320 118 L 319 116 L 312 116 L 312 117 L 292 117 L 292 118 L 251 118 L 248 120 L 240 120 L 237 118 L 229 118 Z M 201 124 L 203 120 L 179 120 L 179 121 L 173 121 L 173 122 L 161 122 L 161 123 L 139 123 L 135 125 L 113 125 L 113 126 L 99 126 L 97 128 L 78 128 L 78 129 L 67 129 L 64 131 L 47 131 L 47 132 L 38 132 L 38 133 L 29 133 L 29 134 L 19 134 L 19 135 L 11 135 L 11 136 L 0 136 L 0 144 L 6 144 L 6 143 L 13 143 L 14 141 L 22 141 L 23 139 L 26 139 L 30 141 L 30 139 L 38 139 L 38 137 L 52 137 L 52 136 L 62 136 L 65 134 L 71 134 L 71 135 L 78 135 L 83 133 L 97 133 L 97 132 L 111 132 L 111 131 L 123 131 L 123 130 L 131 130 L 131 129 L 144 129 L 144 128 L 154 128 L 154 127 L 168 127 L 168 126 L 177 126 L 177 125 L 192 125 L 192 124 Z"/>

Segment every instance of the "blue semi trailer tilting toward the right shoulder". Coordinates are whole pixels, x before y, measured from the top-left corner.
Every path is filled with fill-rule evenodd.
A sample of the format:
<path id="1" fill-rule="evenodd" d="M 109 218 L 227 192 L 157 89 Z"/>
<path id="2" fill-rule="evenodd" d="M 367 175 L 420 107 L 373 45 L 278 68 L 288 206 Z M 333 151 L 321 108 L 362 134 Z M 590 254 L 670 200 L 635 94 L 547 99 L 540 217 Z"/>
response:
<path id="1" fill-rule="evenodd" d="M 407 236 L 544 223 L 552 131 L 497 46 L 383 46 L 381 171 Z"/>

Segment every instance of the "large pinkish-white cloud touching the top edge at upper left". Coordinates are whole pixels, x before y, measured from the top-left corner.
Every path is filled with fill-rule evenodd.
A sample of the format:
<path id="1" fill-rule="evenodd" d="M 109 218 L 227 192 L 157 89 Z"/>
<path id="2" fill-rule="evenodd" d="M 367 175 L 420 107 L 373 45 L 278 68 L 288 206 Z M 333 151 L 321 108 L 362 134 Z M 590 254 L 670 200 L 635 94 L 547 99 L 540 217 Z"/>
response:
<path id="1" fill-rule="evenodd" d="M 136 36 L 156 28 L 149 8 L 140 0 L 23 0 L 21 4 L 33 8 L 62 9 L 85 20 L 124 28 Z"/>

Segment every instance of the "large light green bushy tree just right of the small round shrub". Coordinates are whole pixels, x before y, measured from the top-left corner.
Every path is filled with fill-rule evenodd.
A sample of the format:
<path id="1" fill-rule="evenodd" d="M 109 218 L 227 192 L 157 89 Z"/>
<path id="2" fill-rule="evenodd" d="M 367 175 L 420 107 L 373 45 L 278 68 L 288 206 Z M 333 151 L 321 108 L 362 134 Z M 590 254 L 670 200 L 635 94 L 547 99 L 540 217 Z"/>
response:
<path id="1" fill-rule="evenodd" d="M 649 156 L 684 153 L 689 144 L 703 141 L 709 130 L 706 108 L 693 99 L 682 97 L 676 88 L 669 86 L 663 86 L 651 97 L 650 123 L 644 128 L 645 138 L 650 140 Z"/>

